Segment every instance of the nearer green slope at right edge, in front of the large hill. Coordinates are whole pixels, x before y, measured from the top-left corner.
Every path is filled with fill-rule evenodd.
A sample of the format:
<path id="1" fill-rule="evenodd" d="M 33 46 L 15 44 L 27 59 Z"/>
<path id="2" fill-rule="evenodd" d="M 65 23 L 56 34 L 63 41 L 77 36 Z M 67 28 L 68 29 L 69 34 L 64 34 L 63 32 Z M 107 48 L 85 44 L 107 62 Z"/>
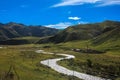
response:
<path id="1" fill-rule="evenodd" d="M 101 50 L 120 49 L 120 26 L 105 32 L 91 40 L 92 45 Z"/>

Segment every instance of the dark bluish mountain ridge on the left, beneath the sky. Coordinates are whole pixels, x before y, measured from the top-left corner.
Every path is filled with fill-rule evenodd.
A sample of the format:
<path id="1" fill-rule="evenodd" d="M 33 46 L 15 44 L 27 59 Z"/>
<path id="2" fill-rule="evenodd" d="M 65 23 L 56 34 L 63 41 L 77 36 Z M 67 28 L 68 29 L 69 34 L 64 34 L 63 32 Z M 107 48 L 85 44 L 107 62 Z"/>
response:
<path id="1" fill-rule="evenodd" d="M 34 36 L 44 37 L 55 35 L 59 30 L 47 28 L 44 26 L 26 26 L 10 22 L 7 24 L 0 23 L 0 41 L 8 40 L 16 37 Z"/>

